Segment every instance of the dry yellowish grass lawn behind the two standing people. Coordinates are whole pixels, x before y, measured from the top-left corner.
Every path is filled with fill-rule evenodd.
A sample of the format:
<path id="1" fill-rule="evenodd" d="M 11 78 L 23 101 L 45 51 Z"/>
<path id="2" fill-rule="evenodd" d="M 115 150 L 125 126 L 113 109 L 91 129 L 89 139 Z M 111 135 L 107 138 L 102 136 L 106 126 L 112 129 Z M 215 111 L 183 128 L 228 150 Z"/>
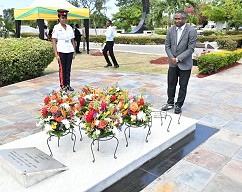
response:
<path id="1" fill-rule="evenodd" d="M 124 53 L 115 52 L 115 57 L 119 63 L 119 68 L 104 68 L 106 61 L 103 56 L 93 56 L 91 53 L 97 52 L 97 50 L 91 50 L 90 54 L 78 54 L 72 63 L 72 71 L 74 70 L 101 70 L 101 71 L 119 71 L 119 72 L 141 72 L 141 73 L 167 73 L 168 65 L 150 64 L 153 59 L 160 58 L 159 55 L 148 54 L 136 54 L 136 53 Z M 110 58 L 111 60 L 111 58 Z M 45 69 L 45 74 L 58 72 L 57 61 L 54 61 Z M 193 67 L 193 74 L 198 73 L 197 67 Z"/>

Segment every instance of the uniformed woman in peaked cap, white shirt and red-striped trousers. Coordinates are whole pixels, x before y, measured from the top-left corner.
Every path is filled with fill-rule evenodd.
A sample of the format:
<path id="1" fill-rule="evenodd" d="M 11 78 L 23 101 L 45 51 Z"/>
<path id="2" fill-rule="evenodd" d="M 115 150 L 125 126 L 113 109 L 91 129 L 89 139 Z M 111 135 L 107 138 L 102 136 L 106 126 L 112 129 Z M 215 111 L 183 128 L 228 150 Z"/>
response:
<path id="1" fill-rule="evenodd" d="M 74 32 L 70 25 L 66 24 L 69 11 L 58 9 L 59 23 L 54 26 L 52 32 L 52 44 L 56 60 L 59 63 L 60 87 L 63 91 L 74 91 L 70 86 L 70 74 L 72 59 L 75 58 Z"/>

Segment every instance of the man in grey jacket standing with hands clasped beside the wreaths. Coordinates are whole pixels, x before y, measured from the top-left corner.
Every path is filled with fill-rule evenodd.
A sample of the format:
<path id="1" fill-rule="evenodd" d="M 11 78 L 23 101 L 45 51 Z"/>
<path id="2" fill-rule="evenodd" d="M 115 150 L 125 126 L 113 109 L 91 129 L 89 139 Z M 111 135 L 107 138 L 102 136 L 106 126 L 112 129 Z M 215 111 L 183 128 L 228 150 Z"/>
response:
<path id="1" fill-rule="evenodd" d="M 175 26 L 170 27 L 166 35 L 165 50 L 169 60 L 168 100 L 161 110 L 167 111 L 175 107 L 174 113 L 180 114 L 191 75 L 192 53 L 196 46 L 197 31 L 186 23 L 186 13 L 184 11 L 177 11 L 174 20 Z M 177 101 L 174 103 L 178 80 L 180 88 Z"/>

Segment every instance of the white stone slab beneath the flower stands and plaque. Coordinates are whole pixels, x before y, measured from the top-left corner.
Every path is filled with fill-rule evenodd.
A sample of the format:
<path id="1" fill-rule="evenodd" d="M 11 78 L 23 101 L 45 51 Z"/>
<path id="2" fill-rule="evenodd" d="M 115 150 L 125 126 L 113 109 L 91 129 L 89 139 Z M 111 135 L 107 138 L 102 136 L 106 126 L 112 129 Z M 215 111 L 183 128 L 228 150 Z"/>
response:
<path id="1" fill-rule="evenodd" d="M 76 130 L 76 135 L 79 142 L 76 142 L 76 152 L 72 151 L 71 137 L 61 138 L 59 147 L 57 139 L 52 139 L 49 144 L 53 157 L 69 169 L 24 188 L 0 167 L 0 191 L 102 191 L 195 130 L 196 120 L 181 116 L 179 124 L 179 115 L 169 115 L 172 117 L 169 132 L 167 132 L 169 118 L 163 118 L 162 125 L 160 118 L 154 118 L 150 129 L 151 134 L 147 138 L 148 142 L 145 141 L 147 128 L 130 129 L 130 138 L 127 138 L 128 147 L 126 147 L 124 132 L 120 132 L 117 135 L 119 140 L 117 159 L 113 157 L 116 147 L 115 140 L 100 142 L 99 151 L 97 143 L 92 146 L 95 154 L 93 163 L 92 140 L 84 135 L 83 140 L 79 141 L 78 130 Z M 43 131 L 2 145 L 0 150 L 34 146 L 46 154 L 50 154 L 46 144 L 47 137 L 48 135 Z"/>

